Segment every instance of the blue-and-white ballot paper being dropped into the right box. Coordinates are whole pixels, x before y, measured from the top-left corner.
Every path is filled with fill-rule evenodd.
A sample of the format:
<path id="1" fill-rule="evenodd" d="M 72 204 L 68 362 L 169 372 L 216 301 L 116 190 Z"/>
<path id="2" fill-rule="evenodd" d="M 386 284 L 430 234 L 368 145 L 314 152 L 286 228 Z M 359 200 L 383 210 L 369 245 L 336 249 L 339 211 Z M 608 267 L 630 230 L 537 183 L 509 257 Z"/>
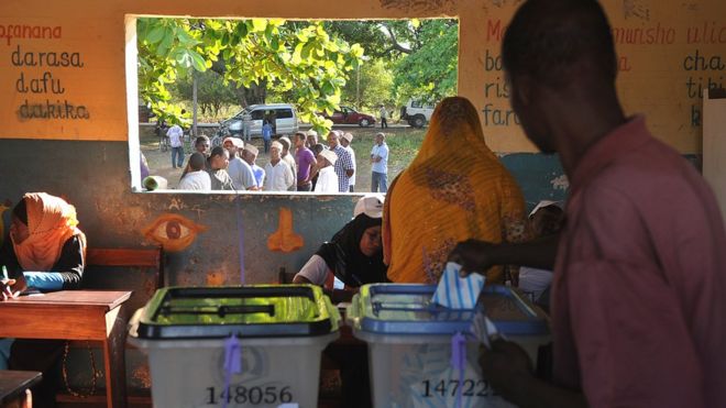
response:
<path id="1" fill-rule="evenodd" d="M 484 287 L 484 276 L 471 274 L 461 277 L 461 265 L 449 262 L 431 300 L 449 309 L 473 309 Z"/>

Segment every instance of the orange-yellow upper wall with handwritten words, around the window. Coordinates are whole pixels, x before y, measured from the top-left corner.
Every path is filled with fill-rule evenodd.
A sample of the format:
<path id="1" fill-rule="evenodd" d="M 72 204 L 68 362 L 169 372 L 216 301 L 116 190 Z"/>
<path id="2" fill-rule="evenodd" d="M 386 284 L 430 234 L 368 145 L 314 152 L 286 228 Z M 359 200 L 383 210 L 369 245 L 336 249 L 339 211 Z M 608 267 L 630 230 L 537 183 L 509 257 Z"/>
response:
<path id="1" fill-rule="evenodd" d="M 532 151 L 514 123 L 514 115 L 509 114 L 509 124 L 501 124 L 509 106 L 502 71 L 492 67 L 499 55 L 497 24 L 504 29 L 518 3 L 519 0 L 6 0 L 0 3 L 0 139 L 125 141 L 127 106 L 136 106 L 136 101 L 127 104 L 128 14 L 289 19 L 446 15 L 460 19 L 459 93 L 470 98 L 482 112 L 488 107 L 482 121 L 488 123 L 484 132 L 490 145 L 498 152 Z M 603 3 L 615 29 L 644 31 L 639 43 L 617 45 L 623 68 L 618 88 L 626 110 L 646 113 L 651 130 L 679 151 L 700 153 L 700 87 L 710 80 L 726 84 L 726 1 Z M 21 33 L 24 37 L 14 37 L 18 25 L 31 31 Z M 45 34 L 50 37 L 35 37 L 38 33 L 32 30 L 41 30 L 42 34 L 42 27 L 47 27 Z M 698 37 L 694 38 L 696 31 Z M 649 34 L 658 37 L 653 41 Z M 82 66 L 24 64 L 31 57 L 37 63 L 41 53 L 55 53 L 58 58 L 68 53 L 72 60 L 77 57 Z M 18 56 L 23 64 L 19 64 Z M 44 76 L 46 88 L 36 87 L 36 92 L 19 90 L 33 84 L 41 86 Z M 45 106 L 46 101 L 61 104 L 64 115 L 67 101 L 76 108 L 84 107 L 88 118 L 81 114 L 75 119 L 28 119 L 28 112 L 21 109 L 26 100 L 31 106 Z"/>

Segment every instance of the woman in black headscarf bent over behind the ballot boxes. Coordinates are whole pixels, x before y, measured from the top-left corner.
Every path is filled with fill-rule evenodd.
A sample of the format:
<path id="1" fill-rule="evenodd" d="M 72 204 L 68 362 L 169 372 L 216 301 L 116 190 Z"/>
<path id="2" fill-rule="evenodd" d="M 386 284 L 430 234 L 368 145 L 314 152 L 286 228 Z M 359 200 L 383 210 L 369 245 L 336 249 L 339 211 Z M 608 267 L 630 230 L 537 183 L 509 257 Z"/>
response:
<path id="1" fill-rule="evenodd" d="M 388 282 L 381 250 L 383 200 L 383 195 L 362 197 L 353 220 L 320 245 L 293 283 L 355 291 L 361 285 Z"/>

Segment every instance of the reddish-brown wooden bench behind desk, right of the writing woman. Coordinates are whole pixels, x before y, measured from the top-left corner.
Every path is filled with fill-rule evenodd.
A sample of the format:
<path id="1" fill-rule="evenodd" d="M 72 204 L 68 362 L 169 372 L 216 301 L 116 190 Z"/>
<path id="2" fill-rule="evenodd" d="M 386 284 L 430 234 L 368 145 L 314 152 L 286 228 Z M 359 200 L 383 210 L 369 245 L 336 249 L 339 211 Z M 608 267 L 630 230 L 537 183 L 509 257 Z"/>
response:
<path id="1" fill-rule="evenodd" d="M 143 274 L 143 276 L 142 276 Z M 139 276 L 139 278 L 136 278 Z M 144 279 L 144 276 L 148 278 Z M 129 280 L 129 279 L 132 280 Z M 131 313 L 143 307 L 154 291 L 165 285 L 164 251 L 161 246 L 153 249 L 98 249 L 86 251 L 86 269 L 84 271 L 85 289 L 129 289 L 133 290 L 127 302 L 127 311 Z M 86 349 L 87 342 L 72 341 L 72 349 Z M 128 345 L 128 348 L 132 348 Z M 103 390 L 96 390 L 94 396 L 75 397 L 64 388 L 56 395 L 58 407 L 103 406 Z M 131 407 L 151 407 L 147 392 L 142 395 L 129 394 L 128 404 Z"/>

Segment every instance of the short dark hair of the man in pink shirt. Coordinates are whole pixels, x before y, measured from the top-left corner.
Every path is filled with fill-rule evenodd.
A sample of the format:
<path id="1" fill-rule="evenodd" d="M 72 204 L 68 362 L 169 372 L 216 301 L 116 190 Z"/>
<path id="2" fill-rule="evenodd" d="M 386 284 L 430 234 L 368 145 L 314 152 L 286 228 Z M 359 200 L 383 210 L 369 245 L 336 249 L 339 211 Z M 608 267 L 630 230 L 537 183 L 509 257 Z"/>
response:
<path id="1" fill-rule="evenodd" d="M 610 25 L 595 0 L 528 0 L 504 34 L 502 62 L 510 76 L 554 87 L 570 81 L 576 63 L 603 79 L 617 74 Z"/>

